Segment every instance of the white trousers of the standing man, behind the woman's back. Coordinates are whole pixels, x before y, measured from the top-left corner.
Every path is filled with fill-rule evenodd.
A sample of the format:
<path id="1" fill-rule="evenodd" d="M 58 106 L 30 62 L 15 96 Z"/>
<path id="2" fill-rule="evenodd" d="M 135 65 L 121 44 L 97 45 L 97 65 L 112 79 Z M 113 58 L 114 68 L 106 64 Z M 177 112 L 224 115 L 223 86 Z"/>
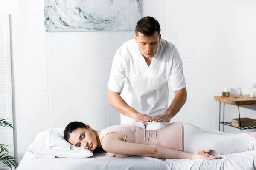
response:
<path id="1" fill-rule="evenodd" d="M 154 116 L 153 116 L 154 117 Z M 139 126 L 142 127 L 144 129 L 147 130 L 157 130 L 160 129 L 161 127 L 164 127 L 165 125 L 168 125 L 167 122 L 163 123 L 163 122 L 145 122 L 145 123 L 141 123 L 141 122 L 136 122 L 134 119 L 125 116 L 123 114 L 120 115 L 120 119 L 121 119 L 121 124 L 128 124 L 128 125 L 134 125 L 134 126 Z"/>

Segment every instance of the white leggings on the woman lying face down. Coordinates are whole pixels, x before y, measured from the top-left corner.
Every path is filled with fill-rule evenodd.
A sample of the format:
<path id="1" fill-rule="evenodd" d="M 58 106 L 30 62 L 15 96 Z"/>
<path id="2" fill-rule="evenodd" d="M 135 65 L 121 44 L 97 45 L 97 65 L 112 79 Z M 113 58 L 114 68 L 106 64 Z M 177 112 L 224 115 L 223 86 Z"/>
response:
<path id="1" fill-rule="evenodd" d="M 225 155 L 256 150 L 256 139 L 247 133 L 231 134 L 217 130 L 204 130 L 188 122 L 184 127 L 184 152 L 211 149 L 210 154 Z"/>

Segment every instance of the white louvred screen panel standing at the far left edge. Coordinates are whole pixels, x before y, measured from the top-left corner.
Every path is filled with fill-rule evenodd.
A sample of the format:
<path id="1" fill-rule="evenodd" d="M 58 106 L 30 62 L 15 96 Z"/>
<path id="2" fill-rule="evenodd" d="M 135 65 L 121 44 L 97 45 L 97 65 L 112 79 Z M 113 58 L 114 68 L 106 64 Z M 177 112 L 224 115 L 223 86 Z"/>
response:
<path id="1" fill-rule="evenodd" d="M 12 76 L 9 14 L 0 14 L 0 119 L 12 122 Z M 13 155 L 13 130 L 0 127 L 0 143 L 11 146 Z M 0 164 L 0 168 L 3 165 Z"/>

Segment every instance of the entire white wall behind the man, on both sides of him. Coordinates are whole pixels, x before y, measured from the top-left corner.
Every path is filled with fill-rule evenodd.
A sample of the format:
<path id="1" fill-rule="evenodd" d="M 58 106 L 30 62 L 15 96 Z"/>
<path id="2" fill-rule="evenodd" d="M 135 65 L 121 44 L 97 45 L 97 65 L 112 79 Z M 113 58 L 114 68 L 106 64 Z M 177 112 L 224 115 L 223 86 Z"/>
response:
<path id="1" fill-rule="evenodd" d="M 0 12 L 11 14 L 16 154 L 23 156 L 49 127 L 74 120 L 96 130 L 119 124 L 107 102 L 108 76 L 115 51 L 133 31 L 45 33 L 43 1 L 0 0 Z M 148 15 L 183 59 L 188 100 L 172 121 L 217 130 L 213 96 L 224 86 L 248 94 L 256 82 L 256 2 L 142 0 L 142 17 Z M 256 119 L 251 109 L 241 108 L 241 116 Z M 237 108 L 226 105 L 225 115 L 237 117 Z"/>

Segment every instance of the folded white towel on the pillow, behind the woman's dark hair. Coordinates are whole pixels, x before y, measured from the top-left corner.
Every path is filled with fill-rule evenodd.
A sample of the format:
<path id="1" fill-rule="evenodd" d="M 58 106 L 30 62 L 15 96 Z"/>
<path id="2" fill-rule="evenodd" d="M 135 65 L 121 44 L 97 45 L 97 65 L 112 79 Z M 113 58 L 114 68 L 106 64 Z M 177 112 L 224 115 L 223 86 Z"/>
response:
<path id="1" fill-rule="evenodd" d="M 47 136 L 49 149 L 70 150 L 71 144 L 64 139 L 64 129 L 50 128 Z"/>

